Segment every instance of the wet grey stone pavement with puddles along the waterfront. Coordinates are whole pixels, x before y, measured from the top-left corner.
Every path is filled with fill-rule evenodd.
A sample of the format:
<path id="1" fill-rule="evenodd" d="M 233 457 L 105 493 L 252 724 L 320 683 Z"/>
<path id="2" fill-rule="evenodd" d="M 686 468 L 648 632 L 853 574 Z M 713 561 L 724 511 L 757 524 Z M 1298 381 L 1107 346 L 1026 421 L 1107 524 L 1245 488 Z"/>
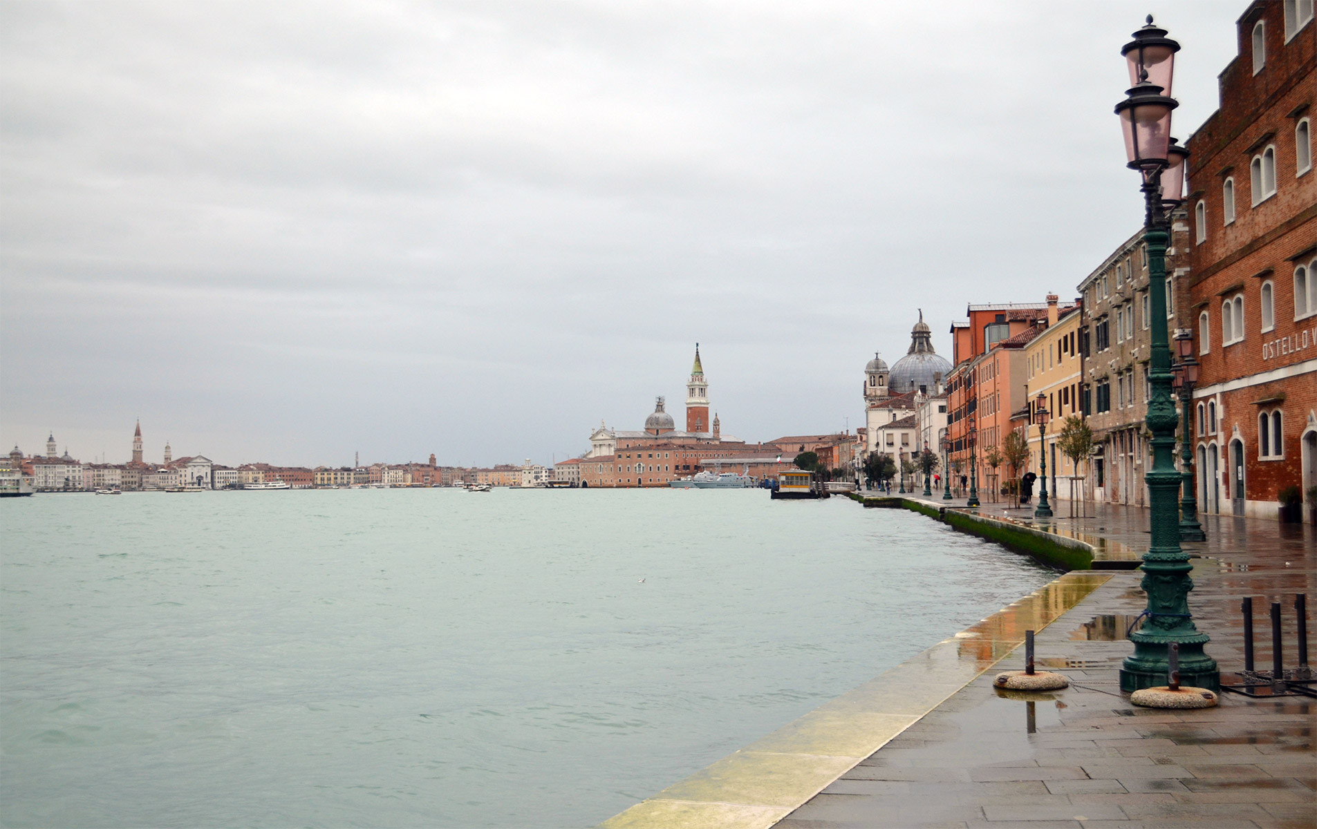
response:
<path id="1" fill-rule="evenodd" d="M 1089 511 L 1096 515 L 1050 524 L 1147 547 L 1146 511 Z M 1021 511 L 1005 515 L 1025 520 Z M 1254 597 L 1258 667 L 1271 666 L 1268 608 L 1277 600 L 1283 661 L 1295 667 L 1295 595 L 1317 600 L 1314 528 L 1233 517 L 1202 524 L 1208 541 L 1185 545 L 1200 557 L 1189 604 L 1212 636 L 1206 651 L 1222 682 L 1243 667 L 1243 596 Z M 1226 692 L 1218 708 L 1166 712 L 1137 708 L 1119 692 L 1117 671 L 1131 653 L 1125 636 L 1144 607 L 1139 578 L 1109 574 L 1038 633 L 1040 667 L 1065 674 L 1069 688 L 997 691 L 997 671 L 1023 667 L 1013 651 L 776 825 L 1317 826 L 1317 700 Z"/>

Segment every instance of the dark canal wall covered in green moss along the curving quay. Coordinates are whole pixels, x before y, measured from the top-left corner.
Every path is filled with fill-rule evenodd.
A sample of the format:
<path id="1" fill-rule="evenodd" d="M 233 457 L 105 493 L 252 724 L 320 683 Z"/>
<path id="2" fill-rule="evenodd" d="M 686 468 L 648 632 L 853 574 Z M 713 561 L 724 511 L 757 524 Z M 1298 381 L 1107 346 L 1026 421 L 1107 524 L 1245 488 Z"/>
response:
<path id="1" fill-rule="evenodd" d="M 961 533 L 993 541 L 1058 570 L 1133 570 L 1139 565 L 1138 555 L 1119 545 L 1112 545 L 1106 540 L 1101 540 L 1100 545 L 1093 543 L 1050 525 L 1029 526 L 1010 518 L 985 516 L 975 509 L 946 507 L 915 497 L 873 497 L 855 492 L 849 497 L 869 508 L 918 512 Z"/>

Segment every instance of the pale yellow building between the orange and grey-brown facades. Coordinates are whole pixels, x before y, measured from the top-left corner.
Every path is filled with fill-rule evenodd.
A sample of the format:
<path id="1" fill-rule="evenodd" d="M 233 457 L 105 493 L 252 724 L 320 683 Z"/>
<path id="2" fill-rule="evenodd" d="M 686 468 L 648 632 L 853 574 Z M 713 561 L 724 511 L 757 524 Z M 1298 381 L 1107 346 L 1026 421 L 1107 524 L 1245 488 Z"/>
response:
<path id="1" fill-rule="evenodd" d="M 1056 295 L 1047 295 L 1047 328 L 1026 346 L 1025 384 L 1030 412 L 1038 405 L 1038 395 L 1046 400 L 1048 421 L 1046 432 L 1039 436 L 1038 424 L 1029 426 L 1029 468 L 1042 475 L 1042 454 L 1047 453 L 1047 492 L 1056 500 L 1071 497 L 1071 478 L 1083 475 L 1084 468 L 1075 471 L 1073 462 L 1062 454 L 1056 445 L 1065 418 L 1084 416 L 1083 367 L 1080 354 L 1080 330 L 1083 328 L 1081 305 L 1058 308 Z M 1046 445 L 1046 449 L 1044 449 Z M 1081 466 L 1085 462 L 1081 462 Z M 1075 497 L 1084 497 L 1083 480 L 1075 484 Z M 1038 487 L 1034 487 L 1036 497 Z"/>

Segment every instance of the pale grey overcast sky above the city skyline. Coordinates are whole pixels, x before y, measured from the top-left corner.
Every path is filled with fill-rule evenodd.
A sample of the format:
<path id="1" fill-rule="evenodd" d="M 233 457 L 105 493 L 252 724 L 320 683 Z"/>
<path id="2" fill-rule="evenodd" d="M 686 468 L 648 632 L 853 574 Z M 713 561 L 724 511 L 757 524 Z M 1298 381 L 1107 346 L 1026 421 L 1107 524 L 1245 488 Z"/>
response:
<path id="1" fill-rule="evenodd" d="M 1147 12 L 1217 104 L 1243 0 L 0 3 L 0 441 L 549 462 L 863 424 L 864 363 L 1063 299 L 1142 221 Z"/>

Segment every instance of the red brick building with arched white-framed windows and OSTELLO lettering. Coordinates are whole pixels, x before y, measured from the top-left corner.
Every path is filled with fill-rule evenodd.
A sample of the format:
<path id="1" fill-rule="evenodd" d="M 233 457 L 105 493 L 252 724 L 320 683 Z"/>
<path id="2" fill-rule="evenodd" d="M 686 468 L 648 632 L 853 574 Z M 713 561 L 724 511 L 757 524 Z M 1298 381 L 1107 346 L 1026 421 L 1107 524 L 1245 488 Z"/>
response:
<path id="1" fill-rule="evenodd" d="M 1197 500 L 1276 518 L 1283 487 L 1317 486 L 1317 24 L 1310 1 L 1258 0 L 1237 28 L 1187 142 Z"/>

